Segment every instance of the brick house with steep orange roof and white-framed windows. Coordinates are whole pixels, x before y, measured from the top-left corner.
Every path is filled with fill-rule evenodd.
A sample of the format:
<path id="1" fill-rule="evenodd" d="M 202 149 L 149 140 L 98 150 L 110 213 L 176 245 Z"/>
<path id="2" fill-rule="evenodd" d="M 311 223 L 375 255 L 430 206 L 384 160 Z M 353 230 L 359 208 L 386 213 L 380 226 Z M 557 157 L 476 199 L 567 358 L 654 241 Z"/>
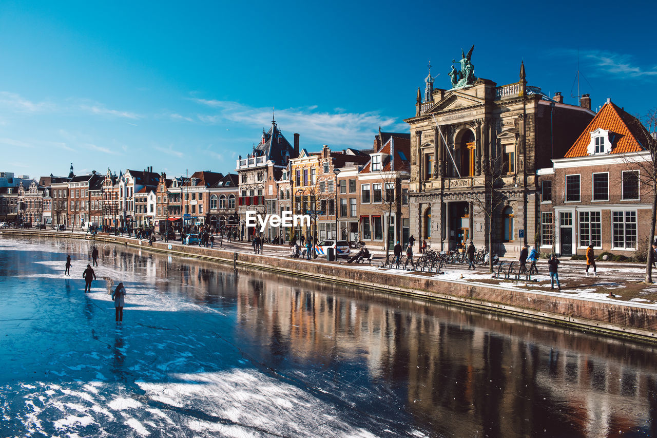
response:
<path id="1" fill-rule="evenodd" d="M 610 100 L 552 168 L 537 172 L 541 187 L 541 251 L 633 255 L 647 245 L 653 193 L 641 183 L 654 139 Z"/>

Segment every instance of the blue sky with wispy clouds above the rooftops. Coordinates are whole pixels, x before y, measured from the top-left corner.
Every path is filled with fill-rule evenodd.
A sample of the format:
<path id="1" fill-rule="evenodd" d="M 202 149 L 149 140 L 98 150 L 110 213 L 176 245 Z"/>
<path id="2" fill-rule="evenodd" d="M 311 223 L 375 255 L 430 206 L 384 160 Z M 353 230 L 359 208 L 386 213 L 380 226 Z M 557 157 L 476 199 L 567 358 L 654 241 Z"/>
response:
<path id="1" fill-rule="evenodd" d="M 540 3 L 540 4 L 538 4 Z M 650 2 L 12 2 L 0 8 L 0 171 L 229 172 L 271 110 L 302 147 L 408 132 L 426 64 L 633 114 L 657 106 Z M 547 5 L 547 3 L 550 3 Z M 640 11 L 640 13 L 639 13 Z"/>

